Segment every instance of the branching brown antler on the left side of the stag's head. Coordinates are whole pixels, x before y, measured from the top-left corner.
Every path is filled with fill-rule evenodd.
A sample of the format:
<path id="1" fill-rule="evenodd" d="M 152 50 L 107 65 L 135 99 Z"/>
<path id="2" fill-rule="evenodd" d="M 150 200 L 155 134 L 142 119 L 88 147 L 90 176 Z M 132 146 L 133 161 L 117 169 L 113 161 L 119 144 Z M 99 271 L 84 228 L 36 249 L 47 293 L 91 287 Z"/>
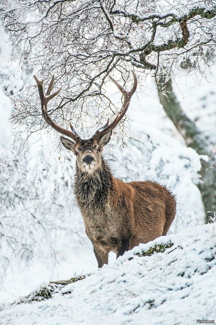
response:
<path id="1" fill-rule="evenodd" d="M 71 131 L 64 129 L 63 127 L 59 126 L 58 124 L 56 124 L 55 122 L 52 121 L 51 117 L 48 115 L 47 113 L 47 103 L 50 99 L 52 99 L 53 97 L 55 97 L 56 95 L 58 95 L 58 93 L 60 93 L 60 91 L 62 90 L 62 87 L 59 88 L 58 90 L 56 90 L 53 94 L 50 95 L 50 92 L 52 90 L 52 85 L 53 85 L 53 81 L 54 81 L 54 74 L 52 76 L 51 82 L 49 84 L 48 90 L 46 92 L 46 96 L 44 96 L 44 92 L 43 92 L 43 80 L 39 81 L 38 78 L 36 78 L 36 76 L 34 76 L 36 83 L 38 85 L 38 92 L 39 92 L 39 96 L 40 96 L 40 103 L 41 103 L 41 109 L 42 109 L 42 115 L 44 120 L 51 126 L 53 127 L 53 129 L 55 129 L 56 131 L 58 131 L 59 133 L 65 135 L 65 136 L 69 136 L 70 138 L 72 138 L 76 143 L 78 141 L 81 140 L 81 138 L 78 136 L 78 134 L 76 133 L 76 131 L 74 130 L 73 125 L 70 123 L 70 127 L 71 127 Z"/>

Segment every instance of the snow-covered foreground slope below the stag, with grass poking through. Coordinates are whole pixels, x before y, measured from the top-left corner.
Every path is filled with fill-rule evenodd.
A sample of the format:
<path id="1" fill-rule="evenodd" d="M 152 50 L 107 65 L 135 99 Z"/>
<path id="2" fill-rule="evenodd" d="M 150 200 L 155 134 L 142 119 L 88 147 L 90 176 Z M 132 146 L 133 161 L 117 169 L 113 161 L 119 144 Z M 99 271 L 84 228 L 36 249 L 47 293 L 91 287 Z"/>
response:
<path id="1" fill-rule="evenodd" d="M 141 244 L 51 299 L 6 306 L 0 324 L 186 325 L 216 320 L 215 226 L 188 227 Z M 170 242 L 173 246 L 164 253 L 142 256 Z"/>

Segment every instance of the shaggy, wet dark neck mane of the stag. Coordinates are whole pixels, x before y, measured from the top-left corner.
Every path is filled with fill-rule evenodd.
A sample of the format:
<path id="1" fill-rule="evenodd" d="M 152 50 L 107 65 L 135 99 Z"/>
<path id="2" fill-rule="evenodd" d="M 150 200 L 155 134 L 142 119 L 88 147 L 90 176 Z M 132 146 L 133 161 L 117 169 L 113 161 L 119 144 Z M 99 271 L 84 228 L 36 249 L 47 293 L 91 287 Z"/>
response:
<path id="1" fill-rule="evenodd" d="M 74 178 L 74 193 L 80 206 L 101 206 L 109 198 L 112 188 L 112 173 L 102 158 L 101 166 L 94 173 L 89 174 L 81 171 L 76 164 Z"/>

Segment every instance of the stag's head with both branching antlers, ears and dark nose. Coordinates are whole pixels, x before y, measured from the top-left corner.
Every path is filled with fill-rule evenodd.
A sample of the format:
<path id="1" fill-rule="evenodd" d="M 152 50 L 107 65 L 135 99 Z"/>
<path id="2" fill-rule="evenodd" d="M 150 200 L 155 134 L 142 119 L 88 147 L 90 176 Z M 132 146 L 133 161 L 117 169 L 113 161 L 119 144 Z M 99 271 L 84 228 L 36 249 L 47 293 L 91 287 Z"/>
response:
<path id="1" fill-rule="evenodd" d="M 124 102 L 122 105 L 121 110 L 119 111 L 118 115 L 114 119 L 112 123 L 109 124 L 109 119 L 107 123 L 98 129 L 96 133 L 90 138 L 90 139 L 81 139 L 78 134 L 76 133 L 73 125 L 70 123 L 71 131 L 62 128 L 61 126 L 57 125 L 55 122 L 51 120 L 51 117 L 47 113 L 47 103 L 50 99 L 55 97 L 62 89 L 59 88 L 57 91 L 55 91 L 53 94 L 50 95 L 53 81 L 54 81 L 54 75 L 52 76 L 51 82 L 49 84 L 46 96 L 44 95 L 43 91 L 43 80 L 39 81 L 35 76 L 36 83 L 38 85 L 38 91 L 40 95 L 40 102 L 41 102 L 41 108 L 42 108 L 42 115 L 45 121 L 53 127 L 56 131 L 63 134 L 64 136 L 68 136 L 72 140 L 65 138 L 63 136 L 60 137 L 61 142 L 63 146 L 71 150 L 76 155 L 76 161 L 78 168 L 86 173 L 92 173 L 97 168 L 100 168 L 101 166 L 101 152 L 108 144 L 110 137 L 112 135 L 112 130 L 117 126 L 117 124 L 120 122 L 120 120 L 125 115 L 132 95 L 134 94 L 136 87 L 137 87 L 137 77 L 135 73 L 133 73 L 133 87 L 131 91 L 126 91 L 121 85 L 117 83 L 116 80 L 114 80 L 112 77 L 110 79 L 114 82 L 114 84 L 119 88 L 120 92 L 124 96 Z"/>

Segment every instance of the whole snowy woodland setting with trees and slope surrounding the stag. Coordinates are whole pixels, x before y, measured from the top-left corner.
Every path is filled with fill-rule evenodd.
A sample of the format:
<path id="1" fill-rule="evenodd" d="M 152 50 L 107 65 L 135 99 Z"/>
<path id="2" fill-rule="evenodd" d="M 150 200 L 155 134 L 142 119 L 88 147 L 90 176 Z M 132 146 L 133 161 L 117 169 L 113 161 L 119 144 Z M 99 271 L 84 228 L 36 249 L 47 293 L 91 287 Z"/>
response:
<path id="1" fill-rule="evenodd" d="M 134 74 L 102 156 L 165 185 L 176 216 L 98 269 L 34 76 L 61 88 L 51 120 L 88 139 L 124 105 L 112 78 L 129 91 Z M 0 325 L 214 323 L 216 1 L 0 0 L 0 95 Z"/>

